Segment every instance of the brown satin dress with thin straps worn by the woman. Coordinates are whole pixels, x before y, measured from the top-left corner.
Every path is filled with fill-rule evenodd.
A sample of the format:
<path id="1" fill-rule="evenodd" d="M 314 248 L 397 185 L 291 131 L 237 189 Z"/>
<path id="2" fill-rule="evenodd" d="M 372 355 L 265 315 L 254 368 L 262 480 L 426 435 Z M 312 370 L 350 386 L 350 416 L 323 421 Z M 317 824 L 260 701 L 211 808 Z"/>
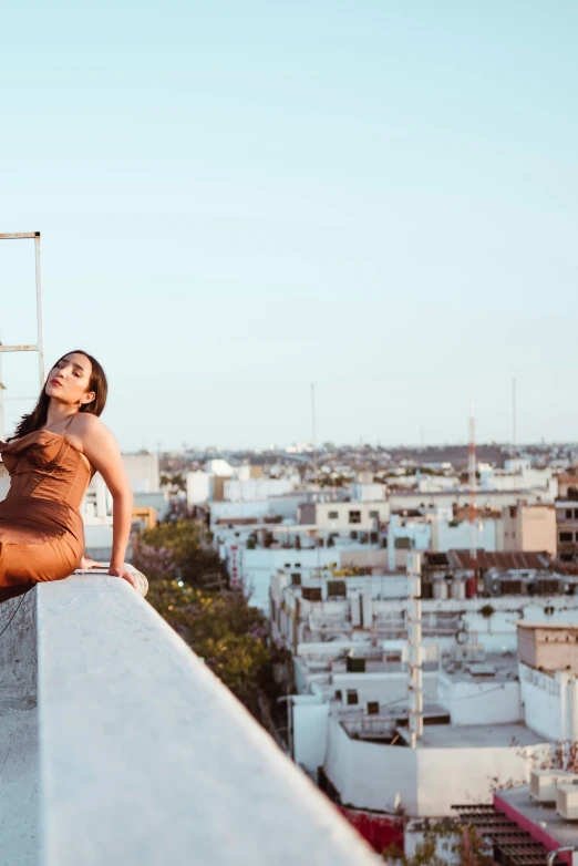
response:
<path id="1" fill-rule="evenodd" d="M 10 489 L 0 502 L 0 600 L 79 567 L 84 526 L 79 512 L 94 470 L 63 434 L 38 430 L 0 454 Z M 11 588 L 17 588 L 11 591 Z"/>

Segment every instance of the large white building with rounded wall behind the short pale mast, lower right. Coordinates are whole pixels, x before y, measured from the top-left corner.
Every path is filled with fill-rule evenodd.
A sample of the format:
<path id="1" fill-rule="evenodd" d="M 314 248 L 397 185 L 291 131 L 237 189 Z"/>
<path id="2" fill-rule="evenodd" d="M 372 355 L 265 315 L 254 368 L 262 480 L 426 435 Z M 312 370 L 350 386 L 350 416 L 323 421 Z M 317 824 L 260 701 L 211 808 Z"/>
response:
<path id="1" fill-rule="evenodd" d="M 349 658 L 363 661 L 363 651 Z M 548 750 L 546 738 L 520 718 L 513 658 L 462 667 L 446 661 L 424 673 L 425 725 L 415 749 L 407 735 L 407 672 L 339 673 L 334 667 L 321 672 L 313 662 L 309 693 L 292 698 L 291 744 L 296 762 L 354 808 L 450 815 L 455 803 L 491 802 L 493 779 L 526 780 L 528 760 Z"/>

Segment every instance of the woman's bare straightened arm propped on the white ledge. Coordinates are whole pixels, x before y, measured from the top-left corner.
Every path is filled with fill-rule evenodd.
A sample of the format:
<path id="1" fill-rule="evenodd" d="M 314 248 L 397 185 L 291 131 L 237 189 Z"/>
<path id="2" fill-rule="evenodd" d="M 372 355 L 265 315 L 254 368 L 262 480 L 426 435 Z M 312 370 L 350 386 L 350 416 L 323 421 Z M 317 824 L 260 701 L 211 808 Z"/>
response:
<path id="1" fill-rule="evenodd" d="M 113 498 L 113 546 L 109 574 L 133 583 L 128 576 L 131 573 L 124 567 L 133 516 L 133 492 L 118 445 L 111 431 L 94 415 L 82 414 L 75 419 L 74 425 L 84 454 L 101 473 Z"/>

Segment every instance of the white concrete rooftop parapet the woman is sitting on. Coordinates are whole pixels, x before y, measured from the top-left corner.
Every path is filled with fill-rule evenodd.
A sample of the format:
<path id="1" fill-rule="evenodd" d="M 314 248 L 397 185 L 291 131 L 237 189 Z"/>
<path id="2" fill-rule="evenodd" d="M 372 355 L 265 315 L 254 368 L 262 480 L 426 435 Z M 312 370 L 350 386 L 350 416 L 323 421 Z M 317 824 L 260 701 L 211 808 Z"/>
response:
<path id="1" fill-rule="evenodd" d="M 364 866 L 375 855 L 128 584 L 0 605 L 7 866 Z"/>

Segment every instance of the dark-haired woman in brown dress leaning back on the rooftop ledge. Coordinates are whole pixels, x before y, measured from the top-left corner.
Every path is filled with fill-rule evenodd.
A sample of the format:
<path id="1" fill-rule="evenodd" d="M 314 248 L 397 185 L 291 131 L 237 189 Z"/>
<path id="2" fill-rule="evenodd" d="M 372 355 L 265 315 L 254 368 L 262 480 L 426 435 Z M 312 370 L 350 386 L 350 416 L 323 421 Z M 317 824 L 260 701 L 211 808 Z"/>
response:
<path id="1" fill-rule="evenodd" d="M 106 377 L 86 352 L 69 352 L 49 373 L 44 390 L 16 435 L 0 442 L 10 491 L 0 502 L 0 600 L 33 584 L 60 580 L 84 553 L 79 506 L 95 472 L 113 497 L 113 546 L 109 574 L 142 591 L 140 575 L 124 557 L 133 494 L 116 441 L 99 415 L 106 402 Z"/>

